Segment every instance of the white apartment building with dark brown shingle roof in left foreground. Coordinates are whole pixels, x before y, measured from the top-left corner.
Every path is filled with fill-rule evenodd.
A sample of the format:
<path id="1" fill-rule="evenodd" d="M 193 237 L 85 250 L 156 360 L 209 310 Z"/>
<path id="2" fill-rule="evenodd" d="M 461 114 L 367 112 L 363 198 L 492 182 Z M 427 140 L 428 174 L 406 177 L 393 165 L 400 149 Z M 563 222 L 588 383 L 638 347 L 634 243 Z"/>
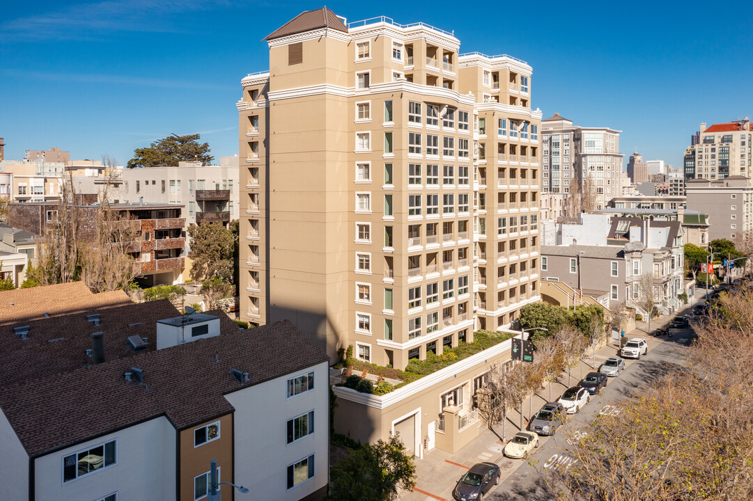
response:
<path id="1" fill-rule="evenodd" d="M 78 293 L 52 287 L 35 292 Z M 0 311 L 38 313 L 2 334 L 0 498 L 206 499 L 211 460 L 255 499 L 326 493 L 328 357 L 291 323 L 248 335 L 123 291 L 43 314 L 38 297 L 0 293 Z"/>

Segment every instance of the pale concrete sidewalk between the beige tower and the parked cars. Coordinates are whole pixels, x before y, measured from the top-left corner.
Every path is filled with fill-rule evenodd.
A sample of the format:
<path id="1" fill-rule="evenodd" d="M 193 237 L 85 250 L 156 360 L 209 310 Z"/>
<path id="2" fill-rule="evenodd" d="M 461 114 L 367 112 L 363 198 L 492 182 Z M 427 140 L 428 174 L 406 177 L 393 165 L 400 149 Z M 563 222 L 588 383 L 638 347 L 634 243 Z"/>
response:
<path id="1" fill-rule="evenodd" d="M 701 304 L 700 301 L 694 301 L 694 305 Z M 681 316 L 691 311 L 691 305 L 683 305 L 675 314 L 665 315 L 663 317 L 651 320 L 651 330 L 658 329 L 660 326 L 667 326 L 672 318 Z M 627 339 L 642 337 L 648 340 L 649 347 L 654 348 L 659 344 L 659 340 L 651 336 L 648 332 L 648 323 L 636 322 L 636 329 L 625 333 Z M 599 366 L 608 357 L 614 357 L 617 354 L 619 341 L 614 342 L 608 339 L 608 342 L 596 349 L 596 364 L 593 364 L 594 354 L 588 352 L 581 360 L 580 366 L 571 370 L 572 376 L 568 372 L 559 375 L 551 385 L 544 382 L 544 387 L 532 397 L 526 399 L 523 403 L 523 426 L 528 425 L 527 418 L 532 413 L 538 411 L 542 405 L 549 402 L 549 391 L 551 386 L 551 398 L 556 400 L 562 395 L 567 388 L 578 384 L 581 378 L 587 374 L 599 369 Z M 595 366 L 593 366 L 595 365 Z M 517 410 L 508 411 L 506 424 L 506 438 L 509 440 L 519 431 L 520 412 Z M 505 444 L 501 442 L 502 425 L 494 427 L 494 432 L 489 430 L 483 424 L 480 427 L 479 435 L 468 445 L 461 448 L 456 454 L 450 454 L 446 451 L 434 448 L 424 454 L 423 459 L 416 459 L 416 487 L 412 491 L 400 493 L 399 499 L 404 501 L 431 501 L 433 499 L 447 500 L 452 499 L 452 491 L 456 482 L 465 471 L 476 463 L 491 462 L 496 463 L 501 469 L 501 481 L 505 481 L 520 466 L 520 460 L 512 460 L 502 454 Z M 548 437 L 542 436 L 541 445 L 547 442 Z"/>

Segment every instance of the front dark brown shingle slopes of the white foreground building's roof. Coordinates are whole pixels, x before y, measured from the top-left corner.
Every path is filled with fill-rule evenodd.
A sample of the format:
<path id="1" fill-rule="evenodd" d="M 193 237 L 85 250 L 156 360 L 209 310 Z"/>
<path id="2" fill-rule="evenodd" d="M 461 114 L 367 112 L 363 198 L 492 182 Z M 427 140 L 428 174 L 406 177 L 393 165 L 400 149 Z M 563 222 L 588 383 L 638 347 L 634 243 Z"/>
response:
<path id="1" fill-rule="evenodd" d="M 102 314 L 104 363 L 53 375 L 41 369 L 54 356 L 46 354 L 42 363 L 33 361 L 40 369 L 37 375 L 0 387 L 0 408 L 26 452 L 35 457 L 160 415 L 182 430 L 227 414 L 233 407 L 224 395 L 244 387 L 230 367 L 248 372 L 248 387 L 328 361 L 327 354 L 288 321 L 241 331 L 227 315 L 217 314 L 221 336 L 110 359 L 108 342 L 123 346 L 129 332 L 108 329 L 109 320 Z M 139 320 L 145 316 L 139 311 Z M 88 340 L 89 330 L 78 336 Z M 125 380 L 123 374 L 133 366 L 144 371 L 147 386 Z"/>

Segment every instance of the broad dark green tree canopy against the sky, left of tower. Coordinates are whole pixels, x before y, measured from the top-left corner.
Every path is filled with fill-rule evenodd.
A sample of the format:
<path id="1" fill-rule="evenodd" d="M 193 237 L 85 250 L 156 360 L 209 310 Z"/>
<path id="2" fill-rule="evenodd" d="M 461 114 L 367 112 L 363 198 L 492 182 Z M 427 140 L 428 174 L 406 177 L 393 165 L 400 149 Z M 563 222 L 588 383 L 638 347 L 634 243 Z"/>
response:
<path id="1" fill-rule="evenodd" d="M 209 154 L 209 143 L 199 144 L 200 134 L 172 134 L 149 147 L 133 150 L 133 158 L 128 161 L 128 169 L 137 167 L 157 167 L 158 165 L 178 165 L 178 162 L 210 163 L 214 156 Z"/>

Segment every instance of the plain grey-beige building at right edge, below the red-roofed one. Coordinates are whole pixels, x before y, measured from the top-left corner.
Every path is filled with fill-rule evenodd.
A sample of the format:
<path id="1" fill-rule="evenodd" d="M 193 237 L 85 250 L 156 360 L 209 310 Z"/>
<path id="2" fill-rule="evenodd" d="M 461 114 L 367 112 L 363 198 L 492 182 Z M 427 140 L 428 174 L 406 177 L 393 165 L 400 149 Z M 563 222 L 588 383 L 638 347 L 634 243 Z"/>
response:
<path id="1" fill-rule="evenodd" d="M 703 142 L 701 142 L 703 144 Z M 709 214 L 709 238 L 748 244 L 753 229 L 753 185 L 750 178 L 691 179 L 685 184 L 687 208 Z"/>

